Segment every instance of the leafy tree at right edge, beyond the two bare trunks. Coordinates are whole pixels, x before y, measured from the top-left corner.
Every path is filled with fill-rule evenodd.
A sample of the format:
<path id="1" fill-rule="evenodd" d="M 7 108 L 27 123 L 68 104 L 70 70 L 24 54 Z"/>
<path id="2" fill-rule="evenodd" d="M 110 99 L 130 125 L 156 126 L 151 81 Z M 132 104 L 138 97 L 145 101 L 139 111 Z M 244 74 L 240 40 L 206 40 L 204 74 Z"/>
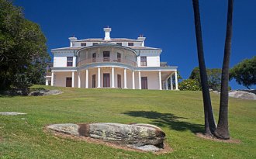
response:
<path id="1" fill-rule="evenodd" d="M 256 85 L 256 57 L 245 59 L 230 69 L 230 79 L 235 79 L 239 85 L 248 89 Z"/>

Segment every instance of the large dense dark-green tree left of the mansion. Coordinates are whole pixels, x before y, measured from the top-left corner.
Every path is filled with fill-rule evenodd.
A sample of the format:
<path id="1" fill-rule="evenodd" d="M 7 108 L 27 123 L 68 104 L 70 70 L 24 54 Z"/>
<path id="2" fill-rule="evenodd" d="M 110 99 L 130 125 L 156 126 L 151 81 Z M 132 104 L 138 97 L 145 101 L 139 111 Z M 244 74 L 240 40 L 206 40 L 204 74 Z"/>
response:
<path id="1" fill-rule="evenodd" d="M 24 18 L 22 9 L 0 0 L 0 88 L 42 82 L 47 54 L 40 26 Z"/>

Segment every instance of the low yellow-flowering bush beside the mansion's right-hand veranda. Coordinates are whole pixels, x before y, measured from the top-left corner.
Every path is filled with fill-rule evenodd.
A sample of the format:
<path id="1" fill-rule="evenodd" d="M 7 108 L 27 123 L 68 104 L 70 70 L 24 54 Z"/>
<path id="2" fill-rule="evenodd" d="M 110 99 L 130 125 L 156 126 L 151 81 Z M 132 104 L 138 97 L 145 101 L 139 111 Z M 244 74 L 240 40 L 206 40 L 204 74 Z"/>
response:
<path id="1" fill-rule="evenodd" d="M 199 91 L 201 90 L 200 84 L 198 81 L 193 79 L 185 79 L 178 84 L 178 88 L 181 91 Z"/>

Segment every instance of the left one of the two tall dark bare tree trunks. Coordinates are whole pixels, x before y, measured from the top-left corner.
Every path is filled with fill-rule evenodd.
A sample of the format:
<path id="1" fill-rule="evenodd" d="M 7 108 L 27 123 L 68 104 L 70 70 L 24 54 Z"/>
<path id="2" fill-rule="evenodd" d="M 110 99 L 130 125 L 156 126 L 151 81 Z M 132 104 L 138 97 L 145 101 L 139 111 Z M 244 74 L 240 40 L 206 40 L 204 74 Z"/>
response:
<path id="1" fill-rule="evenodd" d="M 195 18 L 195 34 L 197 53 L 199 59 L 199 70 L 202 85 L 202 98 L 205 114 L 205 133 L 206 135 L 212 135 L 216 130 L 215 120 L 213 116 L 213 109 L 211 104 L 211 98 L 209 96 L 209 86 L 206 74 L 206 64 L 204 60 L 203 47 L 202 47 L 202 31 L 199 12 L 199 0 L 193 0 L 194 18 Z"/>

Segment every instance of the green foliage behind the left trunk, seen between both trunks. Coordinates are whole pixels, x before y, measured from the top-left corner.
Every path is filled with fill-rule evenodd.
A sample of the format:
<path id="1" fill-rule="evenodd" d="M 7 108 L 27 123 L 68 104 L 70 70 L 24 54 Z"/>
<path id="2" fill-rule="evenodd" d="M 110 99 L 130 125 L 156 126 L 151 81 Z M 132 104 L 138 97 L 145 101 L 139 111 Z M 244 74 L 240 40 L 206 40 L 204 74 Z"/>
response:
<path id="1" fill-rule="evenodd" d="M 208 76 L 209 88 L 220 92 L 221 69 L 220 68 L 212 68 L 212 69 L 207 68 L 206 73 Z M 200 84 L 200 87 L 201 87 L 199 67 L 195 67 L 193 69 L 192 73 L 189 76 L 189 79 L 194 79 L 195 81 L 198 81 Z"/>

